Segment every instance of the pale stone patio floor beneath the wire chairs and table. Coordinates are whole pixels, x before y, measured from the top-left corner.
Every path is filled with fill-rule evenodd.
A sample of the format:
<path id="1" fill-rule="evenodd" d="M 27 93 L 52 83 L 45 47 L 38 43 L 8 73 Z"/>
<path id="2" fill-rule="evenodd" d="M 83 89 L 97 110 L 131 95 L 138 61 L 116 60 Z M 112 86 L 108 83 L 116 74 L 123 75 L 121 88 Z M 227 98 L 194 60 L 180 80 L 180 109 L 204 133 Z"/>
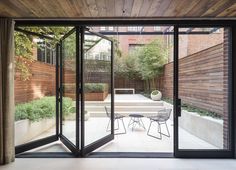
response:
<path id="1" fill-rule="evenodd" d="M 104 102 L 109 102 L 110 96 L 107 97 L 107 99 Z M 147 106 L 144 107 L 151 107 L 151 109 L 154 109 L 151 104 L 157 104 L 157 102 L 154 102 L 142 95 L 136 94 L 136 95 L 115 95 L 115 105 L 119 102 L 126 103 L 126 107 L 130 108 L 131 106 L 135 109 L 138 107 L 140 110 L 141 106 L 139 106 L 139 102 L 144 103 L 146 102 Z M 160 106 L 160 103 L 163 105 Z M 101 105 L 101 103 L 100 103 Z M 157 106 L 158 108 L 168 107 L 171 108 L 172 105 L 160 101 L 158 102 Z M 99 106 L 104 109 L 103 106 Z M 90 108 L 91 109 L 91 108 Z M 149 110 L 150 111 L 150 110 Z M 124 113 L 121 110 L 122 113 Z M 132 113 L 132 111 L 129 111 Z M 155 112 L 155 110 L 153 110 Z M 99 116 L 98 116 L 99 114 Z M 106 117 L 105 110 L 103 111 L 103 116 L 100 115 L 101 111 L 97 113 L 90 113 L 90 117 L 87 121 L 85 121 L 85 145 L 88 145 L 106 135 L 109 134 L 109 132 L 106 131 L 106 127 L 109 121 L 109 118 Z M 128 115 L 128 114 L 126 114 Z M 170 137 L 163 136 L 162 140 L 150 137 L 147 135 L 147 129 L 150 123 L 150 120 L 146 118 L 146 114 L 143 114 L 145 117 L 142 118 L 144 126 L 146 129 L 143 129 L 142 127 L 136 126 L 134 130 L 132 131 L 132 128 L 128 128 L 128 123 L 130 118 L 126 116 L 124 118 L 124 124 L 126 127 L 126 134 L 122 135 L 115 135 L 115 139 L 108 144 L 100 147 L 95 152 L 173 152 L 173 119 L 170 118 L 167 121 L 168 129 L 170 131 Z M 173 114 L 171 114 L 173 116 Z M 117 127 L 117 124 L 115 124 L 115 127 Z M 64 121 L 63 125 L 63 132 L 70 139 L 72 142 L 75 142 L 75 121 L 74 120 L 66 120 Z M 163 132 L 165 133 L 166 129 L 163 126 Z M 120 122 L 120 129 L 116 130 L 116 133 L 122 132 L 122 126 Z M 51 134 L 52 132 L 49 130 L 48 132 L 45 132 L 44 136 L 48 134 Z M 153 126 L 150 130 L 150 133 L 157 135 L 157 126 L 155 123 L 153 123 Z M 200 139 L 197 136 L 194 136 L 193 134 L 189 133 L 183 128 L 179 128 L 179 145 L 180 148 L 192 148 L 192 149 L 217 149 L 216 146 L 210 144 L 209 142 L 206 142 L 202 139 Z M 41 136 L 39 137 L 41 138 Z M 54 144 L 50 144 L 41 148 L 36 149 L 40 152 L 61 152 L 67 150 L 65 147 L 62 146 L 60 142 L 56 142 Z M 67 150 L 68 151 L 68 150 Z"/>

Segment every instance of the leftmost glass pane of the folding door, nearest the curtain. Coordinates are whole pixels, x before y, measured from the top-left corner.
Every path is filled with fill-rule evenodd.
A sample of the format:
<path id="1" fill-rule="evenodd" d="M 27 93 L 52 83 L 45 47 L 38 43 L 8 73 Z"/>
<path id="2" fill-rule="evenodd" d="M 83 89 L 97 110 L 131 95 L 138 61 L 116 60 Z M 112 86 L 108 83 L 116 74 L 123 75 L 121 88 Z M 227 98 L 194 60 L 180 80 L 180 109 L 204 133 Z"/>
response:
<path id="1" fill-rule="evenodd" d="M 15 32 L 15 146 L 56 134 L 56 68 L 42 60 L 45 48 L 37 42 L 44 40 L 26 37 Z M 26 40 L 34 44 L 28 55 L 22 47 Z M 42 53 L 37 56 L 39 49 Z"/>

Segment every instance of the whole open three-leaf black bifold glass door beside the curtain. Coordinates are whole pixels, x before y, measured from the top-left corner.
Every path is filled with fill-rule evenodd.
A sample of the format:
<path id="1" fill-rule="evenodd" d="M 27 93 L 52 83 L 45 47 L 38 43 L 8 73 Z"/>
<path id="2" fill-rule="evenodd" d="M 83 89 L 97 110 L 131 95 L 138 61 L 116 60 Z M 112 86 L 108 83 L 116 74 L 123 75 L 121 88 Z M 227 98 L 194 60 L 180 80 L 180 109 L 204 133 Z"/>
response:
<path id="1" fill-rule="evenodd" d="M 52 30 L 57 29 L 60 39 L 16 29 L 17 40 L 33 36 L 38 48 L 38 60 L 30 65 L 33 97 L 16 96 L 17 103 L 25 102 L 16 109 L 16 154 L 85 156 L 114 139 L 113 41 L 86 27 Z M 22 88 L 28 82 L 17 76 L 16 83 Z M 104 94 L 105 102 L 94 100 Z"/>

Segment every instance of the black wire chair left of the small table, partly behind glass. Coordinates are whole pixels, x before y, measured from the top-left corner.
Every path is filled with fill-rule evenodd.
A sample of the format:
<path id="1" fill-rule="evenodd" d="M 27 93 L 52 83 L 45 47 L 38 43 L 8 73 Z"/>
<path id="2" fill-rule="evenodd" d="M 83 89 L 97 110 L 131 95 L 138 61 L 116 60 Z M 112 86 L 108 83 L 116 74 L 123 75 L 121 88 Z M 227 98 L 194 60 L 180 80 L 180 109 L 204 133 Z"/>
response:
<path id="1" fill-rule="evenodd" d="M 105 110 L 106 110 L 107 117 L 109 117 L 109 122 L 108 122 L 107 129 L 106 129 L 106 131 L 108 132 L 108 131 L 110 131 L 109 126 L 111 123 L 111 109 L 105 106 Z M 115 133 L 115 135 L 126 134 L 126 128 L 125 128 L 125 124 L 124 124 L 124 120 L 123 120 L 124 117 L 125 116 L 118 114 L 118 113 L 114 114 L 114 122 L 117 122 L 117 128 L 115 128 L 114 130 L 120 129 L 119 121 L 122 122 L 123 129 L 124 129 L 124 132 Z"/>

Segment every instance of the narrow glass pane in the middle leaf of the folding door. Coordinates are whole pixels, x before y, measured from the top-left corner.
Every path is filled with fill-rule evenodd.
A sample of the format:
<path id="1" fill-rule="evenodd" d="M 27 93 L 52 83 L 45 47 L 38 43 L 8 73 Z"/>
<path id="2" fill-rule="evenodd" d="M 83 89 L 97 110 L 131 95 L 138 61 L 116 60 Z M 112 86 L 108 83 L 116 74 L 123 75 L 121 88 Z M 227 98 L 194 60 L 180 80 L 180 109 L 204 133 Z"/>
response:
<path id="1" fill-rule="evenodd" d="M 62 134 L 76 144 L 76 33 L 62 41 Z"/>

